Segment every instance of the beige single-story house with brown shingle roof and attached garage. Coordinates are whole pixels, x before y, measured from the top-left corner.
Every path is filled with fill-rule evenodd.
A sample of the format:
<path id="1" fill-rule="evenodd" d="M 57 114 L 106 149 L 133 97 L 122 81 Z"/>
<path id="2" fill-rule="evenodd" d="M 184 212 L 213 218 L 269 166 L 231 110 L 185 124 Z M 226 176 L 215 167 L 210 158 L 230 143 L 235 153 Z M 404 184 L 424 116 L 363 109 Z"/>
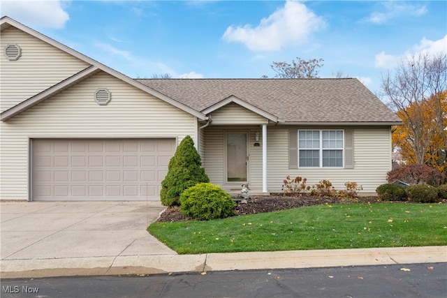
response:
<path id="1" fill-rule="evenodd" d="M 1 200 L 159 200 L 190 135 L 213 184 L 281 192 L 346 181 L 374 193 L 400 119 L 343 79 L 134 80 L 1 18 Z"/>

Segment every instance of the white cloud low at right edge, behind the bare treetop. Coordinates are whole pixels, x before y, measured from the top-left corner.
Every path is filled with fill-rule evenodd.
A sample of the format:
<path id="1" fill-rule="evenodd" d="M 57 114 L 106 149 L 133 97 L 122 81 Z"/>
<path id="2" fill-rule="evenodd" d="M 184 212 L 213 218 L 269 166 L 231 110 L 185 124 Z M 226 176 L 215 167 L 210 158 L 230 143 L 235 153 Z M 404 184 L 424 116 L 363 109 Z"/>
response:
<path id="1" fill-rule="evenodd" d="M 432 55 L 447 54 L 447 34 L 444 38 L 439 40 L 428 40 L 424 37 L 418 44 L 413 45 L 413 47 L 403 54 L 393 55 L 386 54 L 382 51 L 379 54 L 376 54 L 375 66 L 378 68 L 393 68 L 399 64 L 402 59 L 406 59 L 412 55 L 417 55 L 420 53 Z"/>

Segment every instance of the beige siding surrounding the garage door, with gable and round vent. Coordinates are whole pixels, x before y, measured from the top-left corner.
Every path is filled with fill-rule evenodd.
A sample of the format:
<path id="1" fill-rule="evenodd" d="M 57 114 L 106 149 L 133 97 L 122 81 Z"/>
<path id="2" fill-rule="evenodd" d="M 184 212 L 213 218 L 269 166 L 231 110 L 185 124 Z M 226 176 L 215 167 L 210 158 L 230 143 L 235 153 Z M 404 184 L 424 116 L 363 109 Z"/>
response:
<path id="1" fill-rule="evenodd" d="M 107 88 L 108 105 L 94 92 Z M 30 138 L 132 138 L 184 136 L 197 140 L 197 119 L 105 73 L 1 123 L 0 199 L 27 200 Z"/>

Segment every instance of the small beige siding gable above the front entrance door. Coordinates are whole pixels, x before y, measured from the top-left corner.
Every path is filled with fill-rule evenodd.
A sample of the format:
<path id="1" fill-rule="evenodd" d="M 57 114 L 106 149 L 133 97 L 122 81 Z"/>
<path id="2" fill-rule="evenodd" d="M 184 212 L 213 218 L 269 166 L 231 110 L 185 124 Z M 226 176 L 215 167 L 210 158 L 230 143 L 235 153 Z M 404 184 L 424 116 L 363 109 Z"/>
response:
<path id="1" fill-rule="evenodd" d="M 268 124 L 268 119 L 235 103 L 230 103 L 212 112 L 211 118 L 213 125 Z"/>

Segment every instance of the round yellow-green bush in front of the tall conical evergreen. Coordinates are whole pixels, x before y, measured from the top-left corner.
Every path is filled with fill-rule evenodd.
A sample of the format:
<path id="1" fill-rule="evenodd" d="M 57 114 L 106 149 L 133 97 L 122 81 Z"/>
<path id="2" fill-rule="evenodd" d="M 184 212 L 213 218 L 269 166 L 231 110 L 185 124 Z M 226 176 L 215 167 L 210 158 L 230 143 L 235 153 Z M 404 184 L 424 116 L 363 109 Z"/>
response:
<path id="1" fill-rule="evenodd" d="M 209 221 L 235 214 L 235 202 L 223 189 L 211 183 L 199 183 L 180 195 L 180 211 L 189 218 Z"/>

